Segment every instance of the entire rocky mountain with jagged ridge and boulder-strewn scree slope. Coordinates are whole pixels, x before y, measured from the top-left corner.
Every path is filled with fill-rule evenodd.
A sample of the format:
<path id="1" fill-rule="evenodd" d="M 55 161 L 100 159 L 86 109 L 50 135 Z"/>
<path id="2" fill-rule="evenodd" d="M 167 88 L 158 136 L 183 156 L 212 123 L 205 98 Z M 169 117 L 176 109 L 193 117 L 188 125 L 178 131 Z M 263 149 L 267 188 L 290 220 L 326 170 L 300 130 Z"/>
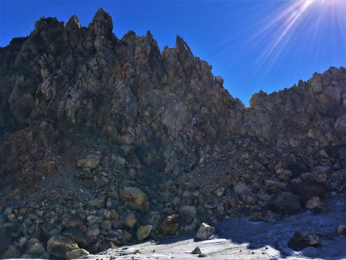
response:
<path id="1" fill-rule="evenodd" d="M 273 222 L 345 193 L 343 67 L 247 108 L 181 37 L 118 39 L 102 9 L 87 28 L 39 19 L 0 64 L 2 258 Z"/>

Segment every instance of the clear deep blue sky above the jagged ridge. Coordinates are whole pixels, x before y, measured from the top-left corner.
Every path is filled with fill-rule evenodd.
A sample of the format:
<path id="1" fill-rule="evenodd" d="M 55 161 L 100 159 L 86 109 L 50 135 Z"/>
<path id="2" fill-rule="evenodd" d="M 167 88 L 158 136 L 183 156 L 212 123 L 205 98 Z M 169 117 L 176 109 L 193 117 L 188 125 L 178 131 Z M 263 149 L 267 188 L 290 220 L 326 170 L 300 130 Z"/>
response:
<path id="1" fill-rule="evenodd" d="M 118 38 L 150 30 L 162 51 L 183 37 L 245 105 L 260 90 L 271 93 L 331 66 L 346 67 L 346 0 L 0 0 L 0 46 L 29 35 L 42 16 L 66 22 L 77 15 L 87 26 L 100 7 L 113 18 Z"/>

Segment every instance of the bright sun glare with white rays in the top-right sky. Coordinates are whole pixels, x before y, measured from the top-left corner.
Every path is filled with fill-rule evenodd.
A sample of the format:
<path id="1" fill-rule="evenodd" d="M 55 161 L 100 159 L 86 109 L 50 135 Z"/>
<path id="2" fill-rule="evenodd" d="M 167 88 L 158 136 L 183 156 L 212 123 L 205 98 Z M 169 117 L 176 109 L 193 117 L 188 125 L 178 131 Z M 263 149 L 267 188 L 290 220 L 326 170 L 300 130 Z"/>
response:
<path id="1" fill-rule="evenodd" d="M 252 36 L 253 42 L 264 46 L 257 60 L 259 66 L 275 66 L 285 49 L 297 44 L 293 40 L 297 35 L 309 34 L 309 40 L 318 44 L 323 23 L 345 30 L 346 0 L 288 0 L 281 3 L 275 15 L 264 20 L 261 28 Z M 303 46 L 298 48 L 302 49 Z"/>

